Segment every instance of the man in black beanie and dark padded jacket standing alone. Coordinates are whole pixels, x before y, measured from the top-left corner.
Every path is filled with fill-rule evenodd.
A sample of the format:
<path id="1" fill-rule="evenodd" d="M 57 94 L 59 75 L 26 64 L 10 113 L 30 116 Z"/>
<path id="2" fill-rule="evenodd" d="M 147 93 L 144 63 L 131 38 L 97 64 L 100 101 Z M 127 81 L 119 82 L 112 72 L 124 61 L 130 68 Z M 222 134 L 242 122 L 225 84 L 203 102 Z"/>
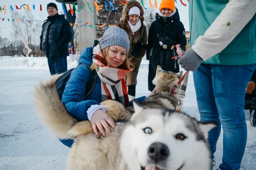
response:
<path id="1" fill-rule="evenodd" d="M 43 24 L 40 36 L 40 50 L 48 59 L 51 75 L 67 71 L 68 43 L 72 32 L 68 20 L 64 15 L 58 14 L 55 3 L 47 5 L 49 16 Z"/>

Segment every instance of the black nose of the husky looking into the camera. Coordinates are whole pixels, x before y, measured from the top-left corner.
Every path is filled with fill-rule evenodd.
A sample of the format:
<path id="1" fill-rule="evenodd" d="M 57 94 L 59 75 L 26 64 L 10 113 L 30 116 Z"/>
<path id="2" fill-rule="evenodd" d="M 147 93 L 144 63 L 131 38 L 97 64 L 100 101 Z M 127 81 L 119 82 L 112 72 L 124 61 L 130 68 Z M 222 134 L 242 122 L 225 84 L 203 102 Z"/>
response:
<path id="1" fill-rule="evenodd" d="M 168 147 L 160 142 L 155 142 L 148 148 L 148 155 L 155 162 L 163 161 L 168 158 L 170 152 Z"/>

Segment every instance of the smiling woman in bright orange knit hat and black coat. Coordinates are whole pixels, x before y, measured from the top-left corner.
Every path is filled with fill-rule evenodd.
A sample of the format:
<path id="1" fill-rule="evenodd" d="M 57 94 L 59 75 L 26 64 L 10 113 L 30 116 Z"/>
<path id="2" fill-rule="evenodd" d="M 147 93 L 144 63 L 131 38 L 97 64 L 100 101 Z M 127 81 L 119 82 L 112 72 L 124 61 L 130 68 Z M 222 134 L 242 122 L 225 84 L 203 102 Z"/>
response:
<path id="1" fill-rule="evenodd" d="M 156 13 L 156 21 L 153 21 L 147 39 L 147 59 L 150 60 L 148 71 L 148 90 L 152 91 L 155 85 L 152 80 L 155 77 L 157 65 L 165 71 L 179 72 L 179 64 L 171 59 L 176 54 L 176 44 L 180 44 L 182 50 L 186 50 L 186 36 L 183 24 L 179 19 L 178 9 L 174 0 L 162 0 Z"/>

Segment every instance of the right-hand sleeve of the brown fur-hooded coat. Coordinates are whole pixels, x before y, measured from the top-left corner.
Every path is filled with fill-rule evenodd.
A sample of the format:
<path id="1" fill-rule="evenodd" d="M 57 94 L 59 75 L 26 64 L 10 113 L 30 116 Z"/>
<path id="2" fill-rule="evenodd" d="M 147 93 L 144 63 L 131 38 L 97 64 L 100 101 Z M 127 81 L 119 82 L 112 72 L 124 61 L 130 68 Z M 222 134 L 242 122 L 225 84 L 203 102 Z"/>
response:
<path id="1" fill-rule="evenodd" d="M 135 58 L 130 58 L 131 65 L 137 70 L 140 67 L 141 60 L 147 51 L 147 27 L 145 25 L 143 25 L 143 35 L 142 38 L 140 39 L 139 47 L 140 52 L 135 56 Z"/>

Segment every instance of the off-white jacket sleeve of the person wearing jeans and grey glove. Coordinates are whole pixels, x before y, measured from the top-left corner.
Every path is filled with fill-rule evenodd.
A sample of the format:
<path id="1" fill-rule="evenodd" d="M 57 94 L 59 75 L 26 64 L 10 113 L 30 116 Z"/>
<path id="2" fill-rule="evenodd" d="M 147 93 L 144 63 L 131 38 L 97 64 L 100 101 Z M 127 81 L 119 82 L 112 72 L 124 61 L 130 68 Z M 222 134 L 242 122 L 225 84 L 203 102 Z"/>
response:
<path id="1" fill-rule="evenodd" d="M 196 39 L 193 50 L 203 60 L 222 52 L 255 13 L 256 0 L 230 0 L 205 34 Z"/>

